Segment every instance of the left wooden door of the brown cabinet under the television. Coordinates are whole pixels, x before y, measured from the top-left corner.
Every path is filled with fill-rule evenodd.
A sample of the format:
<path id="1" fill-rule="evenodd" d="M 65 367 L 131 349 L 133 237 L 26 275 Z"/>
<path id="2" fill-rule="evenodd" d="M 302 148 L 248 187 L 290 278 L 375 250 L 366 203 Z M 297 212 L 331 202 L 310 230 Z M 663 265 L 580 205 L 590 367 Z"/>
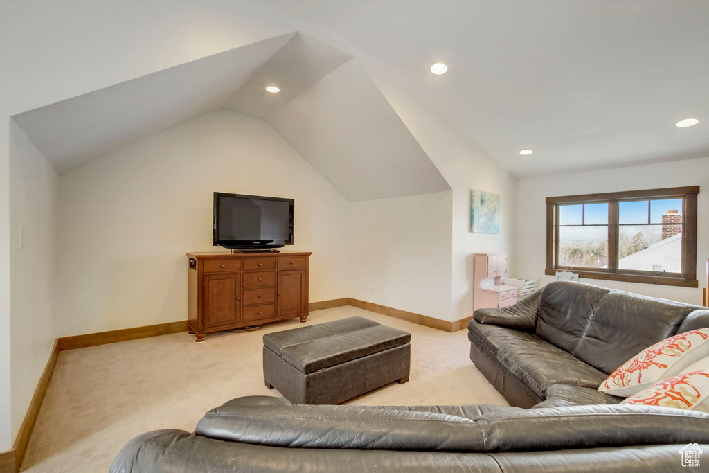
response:
<path id="1" fill-rule="evenodd" d="M 241 321 L 241 274 L 211 274 L 203 279 L 204 328 Z"/>

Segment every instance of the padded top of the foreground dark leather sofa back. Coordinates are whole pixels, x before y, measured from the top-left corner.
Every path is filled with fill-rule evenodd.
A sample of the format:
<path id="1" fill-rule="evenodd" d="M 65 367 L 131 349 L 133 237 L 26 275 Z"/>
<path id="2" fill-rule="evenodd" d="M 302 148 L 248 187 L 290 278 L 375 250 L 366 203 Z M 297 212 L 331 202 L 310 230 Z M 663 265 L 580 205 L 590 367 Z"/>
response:
<path id="1" fill-rule="evenodd" d="M 195 433 L 272 447 L 428 452 L 709 442 L 709 414 L 655 406 L 505 406 L 460 417 L 376 406 L 268 406 L 262 399 L 234 399 L 209 411 Z"/>

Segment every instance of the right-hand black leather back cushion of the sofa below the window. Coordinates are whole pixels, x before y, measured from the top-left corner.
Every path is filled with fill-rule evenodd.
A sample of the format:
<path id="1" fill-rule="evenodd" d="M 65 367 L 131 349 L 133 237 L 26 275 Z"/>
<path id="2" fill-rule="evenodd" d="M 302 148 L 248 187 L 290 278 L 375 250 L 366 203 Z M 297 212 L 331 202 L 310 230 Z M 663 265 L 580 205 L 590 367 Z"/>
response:
<path id="1" fill-rule="evenodd" d="M 614 291 L 598 301 L 584 338 L 571 353 L 612 373 L 642 350 L 677 333 L 692 306 Z"/>

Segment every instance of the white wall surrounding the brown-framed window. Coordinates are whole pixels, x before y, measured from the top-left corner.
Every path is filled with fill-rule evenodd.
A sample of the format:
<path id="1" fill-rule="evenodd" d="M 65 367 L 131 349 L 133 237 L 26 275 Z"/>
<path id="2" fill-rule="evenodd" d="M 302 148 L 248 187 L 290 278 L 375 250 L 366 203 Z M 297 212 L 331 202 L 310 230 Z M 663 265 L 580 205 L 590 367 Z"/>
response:
<path id="1" fill-rule="evenodd" d="M 520 180 L 518 226 L 521 235 L 518 241 L 518 273 L 523 277 L 541 277 L 544 283 L 554 280 L 552 276 L 543 276 L 547 255 L 545 204 L 547 197 L 695 185 L 701 186 L 697 202 L 699 289 L 632 282 L 606 282 L 600 279 L 583 279 L 583 281 L 646 296 L 701 304 L 701 288 L 706 286 L 707 278 L 705 262 L 709 257 L 709 220 L 705 218 L 709 211 L 709 157 Z"/>

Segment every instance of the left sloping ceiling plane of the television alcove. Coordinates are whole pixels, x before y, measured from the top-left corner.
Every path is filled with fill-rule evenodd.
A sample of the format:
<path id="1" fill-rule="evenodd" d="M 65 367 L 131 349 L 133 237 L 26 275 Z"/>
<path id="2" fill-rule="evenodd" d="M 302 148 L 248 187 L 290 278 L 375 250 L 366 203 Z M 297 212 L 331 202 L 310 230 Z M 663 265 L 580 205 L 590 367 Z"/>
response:
<path id="1" fill-rule="evenodd" d="M 221 108 L 295 33 L 13 116 L 60 174 Z"/>

